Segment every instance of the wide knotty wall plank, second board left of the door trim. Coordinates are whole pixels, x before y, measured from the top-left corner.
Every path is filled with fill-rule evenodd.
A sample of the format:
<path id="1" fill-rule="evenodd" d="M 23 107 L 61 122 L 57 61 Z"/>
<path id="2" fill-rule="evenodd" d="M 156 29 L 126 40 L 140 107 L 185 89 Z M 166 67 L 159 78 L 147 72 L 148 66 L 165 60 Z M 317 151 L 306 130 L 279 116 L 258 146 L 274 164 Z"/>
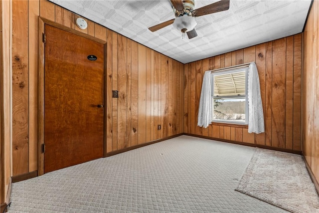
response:
<path id="1" fill-rule="evenodd" d="M 12 169 L 29 172 L 28 1 L 12 1 Z"/>

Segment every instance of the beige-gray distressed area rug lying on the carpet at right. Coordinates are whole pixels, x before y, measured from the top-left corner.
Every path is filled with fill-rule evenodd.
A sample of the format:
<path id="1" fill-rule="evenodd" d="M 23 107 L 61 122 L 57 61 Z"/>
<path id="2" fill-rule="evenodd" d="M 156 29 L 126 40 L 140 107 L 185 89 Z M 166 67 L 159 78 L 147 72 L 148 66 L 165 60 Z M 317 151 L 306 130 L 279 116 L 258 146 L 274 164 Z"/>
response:
<path id="1" fill-rule="evenodd" d="M 293 213 L 319 213 L 319 197 L 300 155 L 256 149 L 236 190 Z"/>

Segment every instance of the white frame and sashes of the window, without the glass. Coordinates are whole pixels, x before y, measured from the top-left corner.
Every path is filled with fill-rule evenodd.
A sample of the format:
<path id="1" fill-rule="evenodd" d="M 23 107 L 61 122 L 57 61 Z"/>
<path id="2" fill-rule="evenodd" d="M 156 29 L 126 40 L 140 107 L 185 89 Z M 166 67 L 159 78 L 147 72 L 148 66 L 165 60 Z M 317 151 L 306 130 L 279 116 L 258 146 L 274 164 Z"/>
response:
<path id="1" fill-rule="evenodd" d="M 214 76 L 220 75 L 220 74 L 227 74 L 227 73 L 234 73 L 234 72 L 240 72 L 245 71 L 245 95 L 227 95 L 227 96 L 214 96 Z M 248 125 L 248 119 L 249 119 L 249 107 L 248 107 L 248 71 L 249 66 L 247 67 L 240 67 L 240 68 L 231 68 L 221 71 L 212 71 L 211 75 L 211 102 L 212 102 L 212 113 L 211 113 L 211 122 L 213 123 L 226 123 L 226 124 L 236 124 L 236 125 Z M 221 119 L 213 119 L 214 117 L 214 99 L 224 99 L 224 98 L 243 98 L 245 97 L 245 122 L 242 121 L 229 121 L 229 120 L 221 120 Z"/>

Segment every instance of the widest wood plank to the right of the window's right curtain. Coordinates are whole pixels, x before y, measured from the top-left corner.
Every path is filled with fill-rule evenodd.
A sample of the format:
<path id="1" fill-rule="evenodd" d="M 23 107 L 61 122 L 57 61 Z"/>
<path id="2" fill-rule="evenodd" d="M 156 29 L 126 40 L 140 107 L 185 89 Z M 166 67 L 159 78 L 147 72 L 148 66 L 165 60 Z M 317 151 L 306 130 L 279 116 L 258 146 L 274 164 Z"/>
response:
<path id="1" fill-rule="evenodd" d="M 273 41 L 272 146 L 285 148 L 286 38 Z"/>

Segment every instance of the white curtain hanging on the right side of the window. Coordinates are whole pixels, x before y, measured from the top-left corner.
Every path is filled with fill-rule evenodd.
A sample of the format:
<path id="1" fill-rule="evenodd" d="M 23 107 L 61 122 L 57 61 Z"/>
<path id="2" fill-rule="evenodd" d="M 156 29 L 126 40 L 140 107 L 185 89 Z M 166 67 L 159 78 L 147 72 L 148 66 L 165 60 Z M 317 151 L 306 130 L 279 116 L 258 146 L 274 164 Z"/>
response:
<path id="1" fill-rule="evenodd" d="M 261 102 L 260 84 L 255 62 L 248 71 L 248 132 L 265 132 L 263 104 Z"/>

